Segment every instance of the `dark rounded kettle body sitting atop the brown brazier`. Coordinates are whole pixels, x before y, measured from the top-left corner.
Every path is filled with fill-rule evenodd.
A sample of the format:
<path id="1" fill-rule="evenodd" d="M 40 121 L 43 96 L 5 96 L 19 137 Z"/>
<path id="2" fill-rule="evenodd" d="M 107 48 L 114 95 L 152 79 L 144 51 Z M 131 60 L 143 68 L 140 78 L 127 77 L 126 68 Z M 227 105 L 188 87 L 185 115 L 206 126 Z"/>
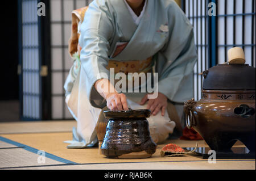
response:
<path id="1" fill-rule="evenodd" d="M 203 73 L 204 90 L 255 90 L 255 68 L 247 64 L 220 64 Z"/>

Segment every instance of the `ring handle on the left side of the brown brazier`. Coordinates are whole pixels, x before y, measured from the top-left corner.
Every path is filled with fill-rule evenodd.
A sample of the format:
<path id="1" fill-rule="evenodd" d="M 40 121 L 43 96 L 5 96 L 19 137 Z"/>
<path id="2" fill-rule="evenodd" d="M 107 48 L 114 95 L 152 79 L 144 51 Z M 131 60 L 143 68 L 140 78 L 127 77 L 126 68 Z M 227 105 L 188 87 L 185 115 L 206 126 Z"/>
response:
<path id="1" fill-rule="evenodd" d="M 193 122 L 195 122 L 195 117 L 193 115 L 193 112 L 191 111 L 192 108 L 195 107 L 195 105 L 196 105 L 195 99 L 191 99 L 191 100 L 187 100 L 187 102 L 185 102 L 183 106 L 188 129 L 191 129 Z"/>

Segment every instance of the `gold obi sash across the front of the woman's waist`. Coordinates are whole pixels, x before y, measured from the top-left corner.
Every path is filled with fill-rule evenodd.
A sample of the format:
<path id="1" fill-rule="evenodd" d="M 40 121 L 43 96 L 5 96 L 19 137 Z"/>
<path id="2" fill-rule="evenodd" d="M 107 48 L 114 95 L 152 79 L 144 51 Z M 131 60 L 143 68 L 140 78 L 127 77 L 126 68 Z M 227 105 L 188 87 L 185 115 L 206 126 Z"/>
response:
<path id="1" fill-rule="evenodd" d="M 154 62 L 152 57 L 147 58 L 146 60 L 131 60 L 131 61 L 115 61 L 110 60 L 109 65 L 106 66 L 106 69 L 114 68 L 114 73 L 119 72 L 125 73 L 147 73 L 152 69 Z"/>

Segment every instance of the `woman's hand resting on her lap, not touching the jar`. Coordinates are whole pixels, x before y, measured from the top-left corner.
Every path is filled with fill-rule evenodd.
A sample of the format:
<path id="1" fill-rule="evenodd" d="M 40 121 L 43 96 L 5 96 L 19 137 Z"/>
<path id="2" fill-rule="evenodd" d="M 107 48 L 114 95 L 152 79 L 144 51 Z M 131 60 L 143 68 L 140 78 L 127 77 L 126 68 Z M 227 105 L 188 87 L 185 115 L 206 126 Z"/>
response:
<path id="1" fill-rule="evenodd" d="M 161 111 L 162 116 L 164 116 L 167 108 L 167 97 L 160 92 L 158 92 L 158 97 L 156 99 L 148 99 L 147 95 L 142 98 L 140 104 L 144 105 L 148 101 L 147 109 L 151 111 L 152 115 L 156 115 L 159 111 Z"/>

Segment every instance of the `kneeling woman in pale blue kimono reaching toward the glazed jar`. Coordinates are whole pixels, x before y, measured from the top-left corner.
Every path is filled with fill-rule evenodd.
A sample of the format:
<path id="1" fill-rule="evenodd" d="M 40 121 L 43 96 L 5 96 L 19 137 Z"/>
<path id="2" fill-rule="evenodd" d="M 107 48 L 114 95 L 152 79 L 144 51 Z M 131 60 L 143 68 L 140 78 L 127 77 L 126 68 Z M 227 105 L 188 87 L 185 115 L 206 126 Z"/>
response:
<path id="1" fill-rule="evenodd" d="M 180 7 L 172 0 L 94 0 L 77 24 L 81 48 L 64 86 L 77 120 L 68 148 L 96 144 L 102 110 L 150 109 L 148 122 L 156 128 L 158 143 L 175 125 L 182 131 L 182 105 L 192 98 L 197 55 L 193 27 Z M 114 75 L 157 73 L 157 96 L 117 91 L 110 70 Z"/>

